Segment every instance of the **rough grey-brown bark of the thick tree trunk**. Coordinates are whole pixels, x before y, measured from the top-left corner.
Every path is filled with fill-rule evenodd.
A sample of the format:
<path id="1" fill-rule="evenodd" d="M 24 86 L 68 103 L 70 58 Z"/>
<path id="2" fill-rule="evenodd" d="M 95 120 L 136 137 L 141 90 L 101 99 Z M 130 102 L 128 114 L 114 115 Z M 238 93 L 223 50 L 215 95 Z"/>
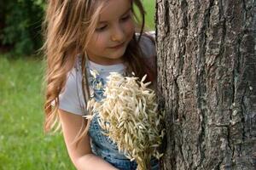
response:
<path id="1" fill-rule="evenodd" d="M 157 0 L 162 169 L 255 169 L 256 1 Z"/>

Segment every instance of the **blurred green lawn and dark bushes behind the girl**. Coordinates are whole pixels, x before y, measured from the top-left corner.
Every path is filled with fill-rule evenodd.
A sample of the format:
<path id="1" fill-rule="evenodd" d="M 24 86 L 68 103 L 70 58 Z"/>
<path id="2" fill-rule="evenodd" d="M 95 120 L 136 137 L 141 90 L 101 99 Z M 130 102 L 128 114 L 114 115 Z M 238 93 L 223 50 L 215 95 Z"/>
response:
<path id="1" fill-rule="evenodd" d="M 154 30 L 154 0 L 143 1 Z M 75 169 L 61 134 L 43 132 L 44 0 L 0 1 L 0 170 Z"/>

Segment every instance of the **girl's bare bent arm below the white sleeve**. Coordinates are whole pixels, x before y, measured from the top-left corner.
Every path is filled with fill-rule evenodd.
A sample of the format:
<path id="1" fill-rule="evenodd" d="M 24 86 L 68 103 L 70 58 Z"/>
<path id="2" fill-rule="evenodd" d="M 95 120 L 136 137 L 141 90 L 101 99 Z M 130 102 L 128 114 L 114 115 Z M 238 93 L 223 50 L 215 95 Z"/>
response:
<path id="1" fill-rule="evenodd" d="M 68 155 L 73 161 L 74 166 L 79 170 L 116 170 L 117 168 L 113 167 L 107 161 L 104 161 L 102 158 L 95 156 L 91 153 L 90 150 L 90 137 L 88 134 L 84 139 L 76 144 L 73 144 L 73 139 L 79 133 L 80 127 L 84 118 L 82 116 L 74 115 L 70 112 L 59 110 L 61 127 L 64 136 L 64 140 L 67 146 Z"/>

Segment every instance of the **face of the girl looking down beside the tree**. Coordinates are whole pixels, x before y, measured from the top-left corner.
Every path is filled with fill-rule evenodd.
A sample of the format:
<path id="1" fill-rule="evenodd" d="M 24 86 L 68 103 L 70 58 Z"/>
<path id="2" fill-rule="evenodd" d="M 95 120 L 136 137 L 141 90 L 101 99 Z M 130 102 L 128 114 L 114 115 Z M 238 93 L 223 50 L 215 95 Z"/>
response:
<path id="1" fill-rule="evenodd" d="M 122 62 L 134 30 L 131 0 L 108 0 L 86 48 L 89 59 L 101 65 Z"/>

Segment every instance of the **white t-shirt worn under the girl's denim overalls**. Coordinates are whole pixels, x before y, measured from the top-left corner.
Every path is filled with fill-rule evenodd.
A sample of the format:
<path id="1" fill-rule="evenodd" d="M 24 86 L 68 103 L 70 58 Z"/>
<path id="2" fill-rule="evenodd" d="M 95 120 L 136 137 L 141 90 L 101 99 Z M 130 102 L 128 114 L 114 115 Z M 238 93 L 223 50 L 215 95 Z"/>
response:
<path id="1" fill-rule="evenodd" d="M 150 32 L 149 35 L 154 37 L 154 32 Z M 154 66 L 154 57 L 156 56 L 154 42 L 152 42 L 150 38 L 143 36 L 139 44 L 143 50 L 143 54 L 145 54 L 145 57 L 148 59 L 148 64 L 150 66 Z M 79 66 L 80 60 L 81 59 L 79 58 L 77 59 L 75 66 L 67 75 L 66 86 L 59 96 L 59 109 L 82 116 L 86 114 L 86 105 L 84 102 L 81 84 L 82 72 Z M 123 64 L 98 65 L 89 61 L 88 67 L 90 70 L 98 71 L 100 73 L 100 78 L 102 78 L 105 82 L 107 82 L 107 77 L 109 76 L 110 72 L 119 72 L 122 74 L 125 71 L 125 65 Z M 91 90 L 92 89 L 90 88 L 90 91 Z"/>

